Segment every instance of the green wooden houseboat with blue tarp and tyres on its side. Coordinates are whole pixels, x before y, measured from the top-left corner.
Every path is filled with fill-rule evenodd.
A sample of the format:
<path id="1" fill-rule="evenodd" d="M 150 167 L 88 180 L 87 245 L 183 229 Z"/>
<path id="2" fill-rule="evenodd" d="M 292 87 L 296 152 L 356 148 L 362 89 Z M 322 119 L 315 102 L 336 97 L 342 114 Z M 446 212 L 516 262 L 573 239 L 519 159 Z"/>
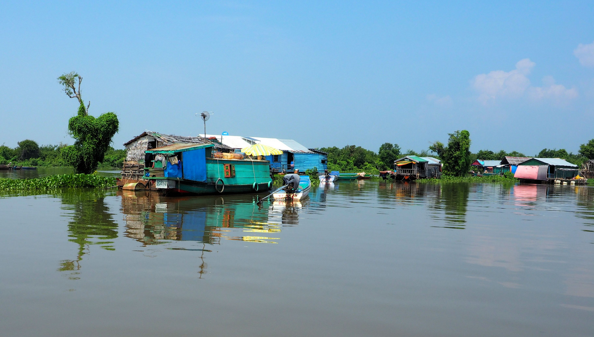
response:
<path id="1" fill-rule="evenodd" d="M 227 194 L 272 189 L 268 161 L 214 158 L 213 146 L 178 143 L 146 150 L 153 155 L 154 168 L 147 169 L 144 178 L 153 183 L 153 188 L 166 193 Z"/>

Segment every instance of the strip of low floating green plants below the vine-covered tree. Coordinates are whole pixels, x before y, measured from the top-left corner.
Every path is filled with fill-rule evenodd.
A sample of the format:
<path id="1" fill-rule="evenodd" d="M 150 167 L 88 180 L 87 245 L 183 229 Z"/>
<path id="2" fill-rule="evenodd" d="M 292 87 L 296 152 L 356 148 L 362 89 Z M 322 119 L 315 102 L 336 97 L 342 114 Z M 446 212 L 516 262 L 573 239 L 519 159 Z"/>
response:
<path id="1" fill-rule="evenodd" d="M 97 174 L 48 175 L 32 179 L 0 178 L 0 190 L 57 190 L 61 188 L 107 188 L 115 185 L 115 178 Z"/>

